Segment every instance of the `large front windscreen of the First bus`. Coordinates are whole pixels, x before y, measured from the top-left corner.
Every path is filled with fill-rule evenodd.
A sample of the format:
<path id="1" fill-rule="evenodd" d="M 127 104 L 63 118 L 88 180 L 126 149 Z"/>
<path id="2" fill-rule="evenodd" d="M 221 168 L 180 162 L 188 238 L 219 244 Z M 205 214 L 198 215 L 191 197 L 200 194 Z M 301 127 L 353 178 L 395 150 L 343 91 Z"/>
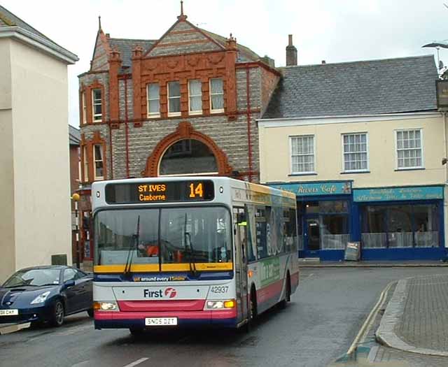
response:
<path id="1" fill-rule="evenodd" d="M 94 218 L 96 265 L 232 261 L 230 213 L 224 207 L 102 210 Z"/>

